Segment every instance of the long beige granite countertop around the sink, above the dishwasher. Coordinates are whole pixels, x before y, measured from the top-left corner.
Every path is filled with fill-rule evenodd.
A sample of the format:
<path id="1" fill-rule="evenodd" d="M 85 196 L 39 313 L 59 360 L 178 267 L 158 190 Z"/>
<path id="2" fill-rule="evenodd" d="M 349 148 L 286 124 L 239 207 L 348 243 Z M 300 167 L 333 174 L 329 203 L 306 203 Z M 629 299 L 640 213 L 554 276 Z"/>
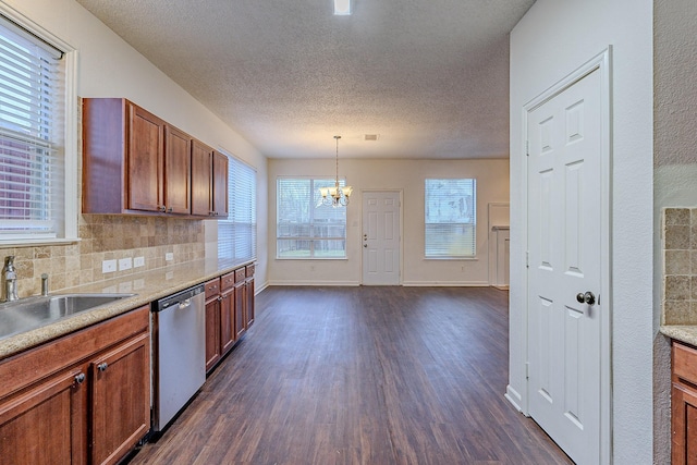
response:
<path id="1" fill-rule="evenodd" d="M 253 260 L 196 260 L 133 273 L 122 278 L 113 278 L 98 283 L 63 289 L 56 294 L 127 293 L 136 295 L 0 340 L 0 359 L 143 305 L 148 305 L 151 302 L 206 282 L 250 262 Z"/>

